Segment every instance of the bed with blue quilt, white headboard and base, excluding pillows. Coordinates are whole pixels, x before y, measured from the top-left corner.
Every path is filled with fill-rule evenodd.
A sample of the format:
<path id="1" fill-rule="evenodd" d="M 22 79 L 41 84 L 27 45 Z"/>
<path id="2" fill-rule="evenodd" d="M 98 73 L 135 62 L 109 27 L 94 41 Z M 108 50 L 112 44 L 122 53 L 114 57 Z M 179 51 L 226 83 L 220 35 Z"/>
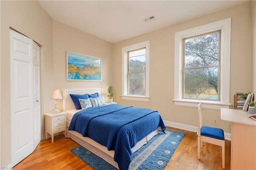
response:
<path id="1" fill-rule="evenodd" d="M 103 96 L 102 88 L 62 89 L 62 90 L 63 90 L 63 111 L 67 113 L 67 120 L 66 120 L 67 131 L 68 131 L 67 137 L 72 138 L 72 140 L 84 146 L 94 154 L 100 156 L 101 158 L 103 158 L 104 160 L 106 160 L 108 163 L 112 164 L 116 168 L 128 169 L 128 165 L 130 164 L 130 160 L 129 160 L 130 154 L 133 152 L 136 152 L 136 150 L 138 150 L 141 146 L 146 144 L 154 135 L 158 134 L 158 129 L 162 131 L 164 131 L 165 129 L 164 123 L 160 115 L 156 111 L 151 109 L 140 108 L 142 109 L 141 113 L 135 114 L 136 111 L 134 109 L 137 109 L 135 107 L 108 104 L 108 103 L 106 105 L 103 105 L 97 108 L 94 107 L 86 110 L 75 109 L 75 105 L 70 97 L 70 94 L 82 95 L 82 94 L 98 93 L 98 96 L 100 97 L 100 96 Z M 132 114 L 132 113 L 134 114 L 132 115 L 132 117 L 136 117 L 134 118 L 135 120 L 130 121 L 130 123 L 126 123 L 124 120 L 128 119 L 128 117 L 130 117 L 128 114 Z M 120 117 L 121 114 L 122 114 L 121 117 L 126 117 L 126 118 L 122 119 Z M 86 117 L 84 118 L 84 120 L 82 120 L 84 115 L 89 115 L 89 117 L 92 117 L 92 119 L 89 120 L 89 118 Z M 117 115 L 119 115 L 121 119 L 116 119 L 116 117 L 118 117 Z M 102 121 L 102 119 L 104 120 Z M 154 121 L 152 121 L 153 119 Z M 154 122 L 153 123 L 154 125 L 152 124 L 151 126 L 146 121 Z M 96 124 L 98 122 L 100 122 L 100 124 Z M 105 125 L 102 125 L 101 123 L 111 124 L 110 126 L 112 127 L 104 128 Z M 85 127 L 82 127 L 82 124 L 84 124 L 83 126 Z M 115 126 L 116 124 L 118 125 L 120 124 L 120 127 L 113 127 L 114 126 L 113 124 Z M 92 125 L 94 125 L 95 127 L 92 127 Z M 141 127 L 138 127 L 138 126 L 141 126 Z M 68 129 L 71 129 L 71 130 L 68 130 Z M 106 130 L 106 132 L 104 130 Z M 103 134 L 98 135 L 100 134 L 100 132 L 103 132 Z M 104 135 L 104 134 L 108 134 L 108 135 Z M 97 136 L 99 139 L 96 138 Z M 105 138 L 103 139 L 104 136 L 107 139 Z M 112 138 L 110 138 L 111 136 Z M 119 136 L 119 138 L 117 136 Z M 122 138 L 122 140 L 119 140 L 120 138 Z M 114 159 L 116 161 L 114 161 Z"/>

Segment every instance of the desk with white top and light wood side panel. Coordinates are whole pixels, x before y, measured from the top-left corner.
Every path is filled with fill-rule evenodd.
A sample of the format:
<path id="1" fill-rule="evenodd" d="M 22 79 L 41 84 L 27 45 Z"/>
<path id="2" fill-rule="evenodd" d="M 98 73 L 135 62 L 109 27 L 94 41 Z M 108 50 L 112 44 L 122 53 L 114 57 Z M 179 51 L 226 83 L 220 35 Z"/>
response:
<path id="1" fill-rule="evenodd" d="M 232 123 L 231 169 L 256 170 L 256 121 L 246 111 L 220 109 L 220 118 Z"/>

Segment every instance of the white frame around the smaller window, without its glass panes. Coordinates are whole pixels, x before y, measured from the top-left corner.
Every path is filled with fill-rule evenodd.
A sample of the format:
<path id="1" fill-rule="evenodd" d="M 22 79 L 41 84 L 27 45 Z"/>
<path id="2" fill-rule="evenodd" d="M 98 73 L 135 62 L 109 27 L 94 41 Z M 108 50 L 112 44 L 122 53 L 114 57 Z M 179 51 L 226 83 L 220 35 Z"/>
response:
<path id="1" fill-rule="evenodd" d="M 146 47 L 146 95 L 128 95 L 128 51 L 133 51 L 144 47 Z M 122 99 L 149 102 L 149 56 L 149 40 L 122 47 Z"/>

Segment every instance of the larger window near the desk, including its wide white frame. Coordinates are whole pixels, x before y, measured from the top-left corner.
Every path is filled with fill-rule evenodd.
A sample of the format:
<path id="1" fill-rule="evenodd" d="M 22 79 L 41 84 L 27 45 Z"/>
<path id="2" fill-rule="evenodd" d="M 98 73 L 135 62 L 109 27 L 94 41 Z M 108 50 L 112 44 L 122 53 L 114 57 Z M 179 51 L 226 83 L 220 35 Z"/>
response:
<path id="1" fill-rule="evenodd" d="M 230 32 L 231 18 L 175 33 L 175 105 L 230 105 Z"/>

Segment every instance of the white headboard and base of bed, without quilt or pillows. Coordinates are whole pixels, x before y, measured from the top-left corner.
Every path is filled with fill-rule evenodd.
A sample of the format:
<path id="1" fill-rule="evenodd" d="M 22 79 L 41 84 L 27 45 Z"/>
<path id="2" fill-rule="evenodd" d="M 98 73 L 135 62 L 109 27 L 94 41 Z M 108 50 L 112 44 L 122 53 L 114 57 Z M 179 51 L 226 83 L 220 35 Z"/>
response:
<path id="1" fill-rule="evenodd" d="M 85 88 L 85 89 L 62 89 L 63 91 L 63 111 L 68 111 L 75 109 L 75 105 L 70 97 L 70 94 L 93 94 L 93 93 L 98 93 L 99 96 L 103 96 L 103 88 Z M 70 125 L 70 121 L 66 121 L 67 125 L 67 137 L 72 138 L 75 142 L 78 144 L 84 146 L 94 154 L 98 155 L 102 159 L 106 160 L 108 163 L 112 164 L 116 168 L 118 168 L 118 164 L 114 161 L 114 150 L 108 150 L 106 146 L 103 146 L 94 140 L 88 138 L 88 137 L 83 137 L 80 133 L 73 131 L 73 130 L 68 130 L 68 127 Z M 132 148 L 132 153 L 138 150 L 141 146 L 147 143 L 153 136 L 158 134 L 158 128 L 151 132 L 148 136 L 140 140 L 136 146 Z"/>

